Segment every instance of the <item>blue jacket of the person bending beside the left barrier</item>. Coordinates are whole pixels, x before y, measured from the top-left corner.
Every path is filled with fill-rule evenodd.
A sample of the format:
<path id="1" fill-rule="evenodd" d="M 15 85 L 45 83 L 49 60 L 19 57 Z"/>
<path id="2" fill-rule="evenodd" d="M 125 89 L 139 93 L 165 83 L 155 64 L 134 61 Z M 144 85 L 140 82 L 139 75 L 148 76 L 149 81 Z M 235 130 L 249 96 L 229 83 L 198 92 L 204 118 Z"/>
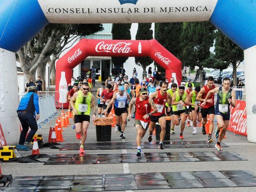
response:
<path id="1" fill-rule="evenodd" d="M 21 102 L 17 111 L 27 110 L 31 114 L 39 114 L 39 104 L 38 104 L 38 95 L 36 93 L 30 92 L 21 98 Z"/>

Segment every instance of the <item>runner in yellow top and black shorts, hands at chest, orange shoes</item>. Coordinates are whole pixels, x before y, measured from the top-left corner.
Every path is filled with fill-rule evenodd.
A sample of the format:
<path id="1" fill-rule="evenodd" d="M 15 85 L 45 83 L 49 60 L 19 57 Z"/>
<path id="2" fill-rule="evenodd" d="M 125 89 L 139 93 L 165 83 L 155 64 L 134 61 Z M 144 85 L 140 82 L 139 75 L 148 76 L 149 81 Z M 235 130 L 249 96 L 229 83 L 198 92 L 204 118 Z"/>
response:
<path id="1" fill-rule="evenodd" d="M 176 126 L 180 124 L 181 121 L 181 133 L 180 133 L 180 139 L 184 139 L 183 137 L 183 131 L 185 128 L 185 104 L 188 105 L 188 94 L 185 92 L 185 87 L 180 86 L 179 90 L 173 93 L 172 96 L 172 110 L 173 110 L 173 121 Z M 179 119 L 180 118 L 180 119 Z"/>

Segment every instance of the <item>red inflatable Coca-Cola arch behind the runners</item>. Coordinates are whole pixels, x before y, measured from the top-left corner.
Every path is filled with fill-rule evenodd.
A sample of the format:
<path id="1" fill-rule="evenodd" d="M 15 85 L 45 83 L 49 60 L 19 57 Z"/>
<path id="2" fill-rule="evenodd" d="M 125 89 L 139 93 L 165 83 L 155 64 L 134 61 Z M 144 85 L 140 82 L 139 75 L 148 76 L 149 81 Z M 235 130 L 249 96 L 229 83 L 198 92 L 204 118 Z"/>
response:
<path id="1" fill-rule="evenodd" d="M 167 51 L 157 40 L 98 40 L 81 39 L 56 64 L 56 91 L 66 90 L 66 79 L 72 77 L 72 69 L 88 56 L 105 57 L 151 57 L 165 69 L 167 78 L 176 73 L 180 84 L 182 80 L 181 61 Z M 63 73 L 62 73 L 63 72 Z M 61 82 L 61 83 L 60 83 Z M 68 82 L 69 83 L 69 82 Z M 64 108 L 68 107 L 66 92 L 60 96 Z"/>

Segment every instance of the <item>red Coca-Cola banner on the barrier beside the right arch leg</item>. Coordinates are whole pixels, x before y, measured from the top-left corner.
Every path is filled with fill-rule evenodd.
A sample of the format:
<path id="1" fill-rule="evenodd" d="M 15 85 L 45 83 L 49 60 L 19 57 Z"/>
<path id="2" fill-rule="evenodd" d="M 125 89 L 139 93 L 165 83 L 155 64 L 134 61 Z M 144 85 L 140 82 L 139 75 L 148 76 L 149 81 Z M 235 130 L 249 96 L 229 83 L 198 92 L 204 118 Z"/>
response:
<path id="1" fill-rule="evenodd" d="M 235 134 L 247 136 L 247 113 L 244 100 L 236 100 L 236 107 L 230 106 L 230 121 L 227 130 Z"/>

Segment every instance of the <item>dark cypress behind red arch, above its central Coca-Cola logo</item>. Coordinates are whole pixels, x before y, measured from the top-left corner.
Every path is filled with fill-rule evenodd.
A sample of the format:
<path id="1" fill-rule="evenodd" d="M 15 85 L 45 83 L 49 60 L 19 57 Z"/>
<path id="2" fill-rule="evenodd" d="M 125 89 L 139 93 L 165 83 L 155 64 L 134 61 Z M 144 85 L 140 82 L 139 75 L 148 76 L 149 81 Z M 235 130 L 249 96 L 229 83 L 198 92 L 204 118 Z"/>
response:
<path id="1" fill-rule="evenodd" d="M 112 39 L 123 39 L 123 40 L 130 40 L 130 27 L 131 23 L 125 24 L 113 24 L 112 25 Z M 111 57 L 112 63 L 114 65 L 121 65 L 128 60 L 128 57 Z"/>

